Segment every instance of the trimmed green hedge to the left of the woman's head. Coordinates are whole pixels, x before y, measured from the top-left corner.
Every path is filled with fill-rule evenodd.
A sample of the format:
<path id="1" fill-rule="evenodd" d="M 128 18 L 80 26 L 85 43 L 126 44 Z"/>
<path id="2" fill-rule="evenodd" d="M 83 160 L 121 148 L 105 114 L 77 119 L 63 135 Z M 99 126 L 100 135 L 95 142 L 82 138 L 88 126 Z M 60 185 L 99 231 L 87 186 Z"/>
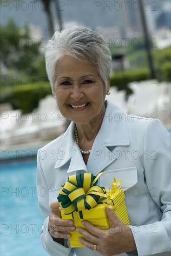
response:
<path id="1" fill-rule="evenodd" d="M 11 92 L 1 96 L 1 103 L 10 102 L 14 109 L 30 113 L 37 108 L 39 100 L 52 94 L 49 82 L 13 86 Z"/>

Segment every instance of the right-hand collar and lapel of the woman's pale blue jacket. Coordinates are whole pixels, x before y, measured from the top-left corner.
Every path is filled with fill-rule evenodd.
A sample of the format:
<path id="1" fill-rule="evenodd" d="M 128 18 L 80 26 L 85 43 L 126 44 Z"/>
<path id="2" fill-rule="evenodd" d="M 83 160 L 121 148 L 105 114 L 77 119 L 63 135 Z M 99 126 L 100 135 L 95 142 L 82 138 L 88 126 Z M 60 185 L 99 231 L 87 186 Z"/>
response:
<path id="1" fill-rule="evenodd" d="M 88 172 L 94 175 L 103 171 L 117 159 L 112 153 L 116 146 L 130 144 L 124 111 L 110 101 L 106 103 L 105 116 L 87 162 Z"/>

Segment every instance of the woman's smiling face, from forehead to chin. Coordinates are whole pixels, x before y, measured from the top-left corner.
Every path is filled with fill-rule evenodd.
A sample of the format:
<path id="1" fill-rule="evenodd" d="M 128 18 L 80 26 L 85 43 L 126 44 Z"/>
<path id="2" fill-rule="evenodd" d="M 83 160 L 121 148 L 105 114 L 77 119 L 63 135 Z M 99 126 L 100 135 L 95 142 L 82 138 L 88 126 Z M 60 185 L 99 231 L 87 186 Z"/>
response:
<path id="1" fill-rule="evenodd" d="M 105 113 L 106 88 L 92 64 L 65 55 L 57 65 L 54 90 L 61 114 L 77 124 Z"/>

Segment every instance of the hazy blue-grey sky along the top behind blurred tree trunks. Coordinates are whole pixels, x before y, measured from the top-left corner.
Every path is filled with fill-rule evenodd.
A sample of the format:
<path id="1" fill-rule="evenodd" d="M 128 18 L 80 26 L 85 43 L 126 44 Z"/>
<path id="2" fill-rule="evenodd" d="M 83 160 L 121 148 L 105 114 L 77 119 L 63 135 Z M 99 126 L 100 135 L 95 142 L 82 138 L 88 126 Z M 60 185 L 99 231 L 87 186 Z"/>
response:
<path id="1" fill-rule="evenodd" d="M 48 37 L 47 17 L 41 0 L 1 0 L 0 2 L 1 25 L 12 18 L 18 26 L 22 26 L 25 22 L 40 26 L 43 36 Z M 115 25 L 121 28 L 124 27 L 123 10 L 128 2 L 131 2 L 132 8 L 136 10 L 138 0 L 59 0 L 59 9 L 65 22 L 77 21 L 79 25 L 92 29 Z M 144 7 L 145 10 L 154 10 L 154 13 L 157 13 L 161 3 L 164 6 L 164 3 L 170 3 L 170 0 L 144 0 Z M 56 8 L 55 1 L 52 1 L 51 9 L 57 23 Z"/>

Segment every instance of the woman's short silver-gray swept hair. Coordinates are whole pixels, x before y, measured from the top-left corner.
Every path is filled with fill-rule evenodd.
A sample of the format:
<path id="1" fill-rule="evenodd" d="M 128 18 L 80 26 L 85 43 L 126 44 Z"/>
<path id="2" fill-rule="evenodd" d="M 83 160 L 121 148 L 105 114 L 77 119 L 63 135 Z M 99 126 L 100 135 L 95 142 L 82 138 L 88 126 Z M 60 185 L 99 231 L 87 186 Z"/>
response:
<path id="1" fill-rule="evenodd" d="M 101 35 L 87 27 L 56 31 L 45 49 L 46 72 L 54 95 L 55 70 L 64 55 L 96 65 L 107 88 L 111 74 L 111 52 Z"/>

